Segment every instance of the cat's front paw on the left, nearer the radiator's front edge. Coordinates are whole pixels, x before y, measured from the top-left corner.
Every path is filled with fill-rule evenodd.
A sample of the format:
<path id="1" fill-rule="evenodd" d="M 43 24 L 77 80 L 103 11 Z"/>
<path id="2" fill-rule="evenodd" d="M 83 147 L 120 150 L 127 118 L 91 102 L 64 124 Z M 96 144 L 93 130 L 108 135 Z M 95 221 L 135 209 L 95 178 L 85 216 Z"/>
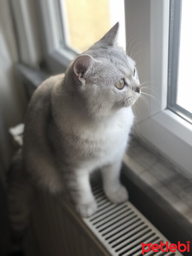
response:
<path id="1" fill-rule="evenodd" d="M 93 215 L 97 210 L 97 204 L 95 201 L 91 201 L 87 204 L 76 204 L 76 211 L 81 215 L 81 217 L 89 217 Z"/>

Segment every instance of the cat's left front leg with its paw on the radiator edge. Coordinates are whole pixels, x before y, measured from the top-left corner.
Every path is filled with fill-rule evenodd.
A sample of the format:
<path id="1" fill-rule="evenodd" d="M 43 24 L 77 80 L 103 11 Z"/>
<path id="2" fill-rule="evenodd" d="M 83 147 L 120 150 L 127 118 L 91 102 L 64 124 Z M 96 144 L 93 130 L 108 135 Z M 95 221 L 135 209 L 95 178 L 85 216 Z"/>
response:
<path id="1" fill-rule="evenodd" d="M 77 212 L 82 217 L 88 217 L 96 212 L 97 204 L 91 191 L 89 172 L 76 170 L 68 177 L 68 188 Z"/>

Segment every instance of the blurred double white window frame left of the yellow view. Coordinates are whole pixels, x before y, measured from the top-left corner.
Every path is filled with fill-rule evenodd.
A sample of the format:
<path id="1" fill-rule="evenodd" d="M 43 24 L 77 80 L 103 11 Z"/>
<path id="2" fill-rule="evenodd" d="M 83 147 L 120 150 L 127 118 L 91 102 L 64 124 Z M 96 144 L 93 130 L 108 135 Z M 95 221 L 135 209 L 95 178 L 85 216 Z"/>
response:
<path id="1" fill-rule="evenodd" d="M 42 60 L 51 73 L 64 72 L 75 53 L 59 42 L 55 0 L 11 0 L 20 61 L 38 69 Z"/>

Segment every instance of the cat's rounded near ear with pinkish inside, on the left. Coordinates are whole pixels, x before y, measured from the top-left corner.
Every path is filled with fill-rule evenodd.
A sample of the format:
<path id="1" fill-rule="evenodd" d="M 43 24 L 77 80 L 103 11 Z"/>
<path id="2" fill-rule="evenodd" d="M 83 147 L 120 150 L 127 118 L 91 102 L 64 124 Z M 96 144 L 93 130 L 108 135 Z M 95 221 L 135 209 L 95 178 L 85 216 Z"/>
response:
<path id="1" fill-rule="evenodd" d="M 93 72 L 96 61 L 88 54 L 80 55 L 73 64 L 73 76 L 76 80 L 82 81 Z"/>

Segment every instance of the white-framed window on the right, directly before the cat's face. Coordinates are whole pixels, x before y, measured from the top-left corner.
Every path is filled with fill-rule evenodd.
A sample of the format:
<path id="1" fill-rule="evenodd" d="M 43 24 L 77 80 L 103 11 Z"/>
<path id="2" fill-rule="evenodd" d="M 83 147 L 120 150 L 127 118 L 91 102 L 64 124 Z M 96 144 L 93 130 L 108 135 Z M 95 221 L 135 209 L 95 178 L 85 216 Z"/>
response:
<path id="1" fill-rule="evenodd" d="M 184 2 L 185 0 L 182 3 Z M 184 3 L 183 13 L 185 12 L 185 9 L 190 10 L 190 6 L 187 6 L 188 2 L 190 1 Z M 173 7 L 169 6 L 169 4 L 173 6 L 173 3 L 175 4 L 175 11 L 171 9 Z M 146 143 L 151 144 L 156 150 L 172 160 L 172 162 L 187 175 L 192 173 L 192 125 L 186 121 L 186 119 L 190 117 L 189 108 L 186 105 L 183 105 L 180 101 L 180 97 L 182 97 L 182 94 L 180 94 L 182 83 L 179 84 L 179 79 L 183 76 L 182 69 L 184 68 L 182 64 L 182 55 L 183 50 L 186 50 L 187 47 L 187 45 L 183 45 L 186 39 L 182 35 L 182 29 L 184 24 L 189 22 L 189 20 L 187 20 L 189 16 L 187 17 L 187 14 L 185 15 L 183 13 L 182 15 L 185 19 L 182 20 L 181 15 L 180 56 L 179 42 L 174 40 L 173 44 L 177 54 L 173 53 L 171 56 L 173 63 L 175 60 L 178 61 L 178 57 L 180 57 L 178 76 L 177 67 L 173 67 L 173 73 L 171 73 L 171 76 L 175 79 L 176 83 L 171 84 L 169 82 L 169 85 L 172 87 L 171 90 L 175 90 L 174 104 L 170 104 L 169 101 L 170 95 L 173 95 L 173 92 L 168 90 L 168 75 L 170 73 L 170 63 L 168 61 L 170 60 L 169 21 L 171 21 L 169 20 L 169 17 L 172 17 L 171 15 L 173 11 L 177 12 L 178 15 L 174 15 L 175 22 L 180 23 L 181 9 L 178 8 L 177 5 L 181 6 L 180 0 L 125 1 L 125 22 L 127 41 L 132 38 L 131 40 L 135 40 L 134 44 L 141 43 L 140 48 L 137 48 L 137 51 L 140 52 L 135 55 L 135 60 L 140 75 L 140 82 L 141 84 L 144 83 L 143 87 L 146 85 L 146 88 L 143 88 L 142 90 L 144 93 L 152 95 L 152 97 L 145 95 L 145 98 L 150 104 L 150 109 L 148 109 L 141 100 L 136 102 L 138 111 L 134 132 Z M 179 26 L 176 26 L 175 32 L 177 32 L 177 35 L 178 30 Z M 185 32 L 183 32 L 183 34 L 186 35 Z M 131 47 L 132 46 L 130 46 L 130 48 Z M 188 68 L 189 66 L 186 67 L 186 70 Z M 187 97 L 188 96 L 186 96 L 185 101 L 183 102 L 186 103 Z M 188 103 L 190 107 L 191 99 Z M 180 115 L 178 115 L 178 112 L 176 114 L 176 110 L 173 111 L 173 105 L 182 108 Z M 185 118 L 183 113 L 186 112 L 183 110 L 188 111 L 187 114 L 185 114 Z M 181 115 L 182 118 L 180 117 Z M 185 154 L 183 154 L 183 152 L 185 152 Z"/>

